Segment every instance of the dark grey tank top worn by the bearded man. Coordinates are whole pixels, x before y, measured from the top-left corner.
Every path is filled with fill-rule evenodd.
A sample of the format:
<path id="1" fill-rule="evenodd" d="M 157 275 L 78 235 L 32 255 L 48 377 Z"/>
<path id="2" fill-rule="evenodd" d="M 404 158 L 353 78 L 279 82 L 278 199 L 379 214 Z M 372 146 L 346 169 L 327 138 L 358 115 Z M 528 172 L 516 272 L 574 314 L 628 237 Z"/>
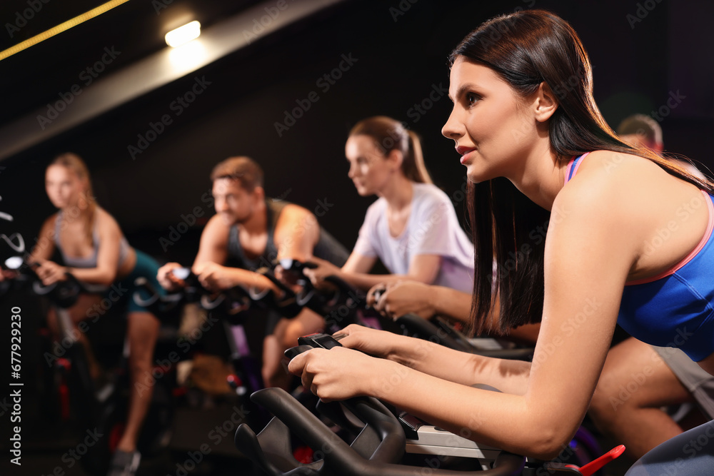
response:
<path id="1" fill-rule="evenodd" d="M 231 232 L 228 235 L 228 258 L 231 259 L 231 265 L 251 271 L 263 267 L 270 268 L 273 265 L 273 262 L 278 258 L 278 247 L 273 239 L 275 226 L 278 223 L 280 214 L 283 212 L 283 208 L 289 204 L 289 202 L 274 201 L 271 198 L 266 200 L 268 242 L 263 254 L 254 259 L 248 258 L 246 253 L 243 252 L 241 240 L 238 239 L 238 226 L 231 227 Z M 342 267 L 347 261 L 349 253 L 338 240 L 320 227 L 320 238 L 315 248 L 313 248 L 313 255 L 323 260 L 328 260 L 333 265 Z"/>

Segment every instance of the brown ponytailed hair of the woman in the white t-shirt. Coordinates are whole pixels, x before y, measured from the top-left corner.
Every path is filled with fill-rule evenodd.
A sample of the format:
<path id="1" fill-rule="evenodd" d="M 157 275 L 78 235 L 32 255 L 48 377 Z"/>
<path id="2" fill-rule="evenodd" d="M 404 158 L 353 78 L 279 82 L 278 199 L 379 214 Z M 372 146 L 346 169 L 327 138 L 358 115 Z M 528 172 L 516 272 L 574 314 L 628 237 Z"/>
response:
<path id="1" fill-rule="evenodd" d="M 373 116 L 362 119 L 350 131 L 352 136 L 373 138 L 383 156 L 391 151 L 402 153 L 401 169 L 404 176 L 417 183 L 432 183 L 431 176 L 424 165 L 421 151 L 421 139 L 396 119 L 387 116 Z"/>

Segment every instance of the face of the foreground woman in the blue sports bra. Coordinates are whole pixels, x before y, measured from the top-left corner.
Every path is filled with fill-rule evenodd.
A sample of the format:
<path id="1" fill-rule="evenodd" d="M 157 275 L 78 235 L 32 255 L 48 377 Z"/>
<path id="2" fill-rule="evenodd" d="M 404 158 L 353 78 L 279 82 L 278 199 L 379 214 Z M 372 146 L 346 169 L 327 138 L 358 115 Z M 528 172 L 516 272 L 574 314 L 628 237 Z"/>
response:
<path id="1" fill-rule="evenodd" d="M 441 133 L 456 142 L 473 182 L 509 176 L 538 138 L 523 98 L 496 71 L 458 56 L 451 67 L 451 115 Z"/>

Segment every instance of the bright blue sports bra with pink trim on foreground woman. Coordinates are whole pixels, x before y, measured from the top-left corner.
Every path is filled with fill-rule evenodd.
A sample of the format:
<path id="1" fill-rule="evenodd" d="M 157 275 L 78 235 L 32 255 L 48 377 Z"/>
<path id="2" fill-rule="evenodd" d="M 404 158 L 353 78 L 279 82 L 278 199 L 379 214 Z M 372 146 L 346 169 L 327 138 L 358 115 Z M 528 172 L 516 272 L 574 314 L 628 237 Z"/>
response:
<path id="1" fill-rule="evenodd" d="M 586 155 L 570 161 L 566 183 Z M 643 342 L 680 348 L 698 362 L 714 353 L 714 196 L 702 191 L 694 202 L 690 207 L 709 210 L 704 236 L 670 270 L 625 283 L 618 324 Z"/>

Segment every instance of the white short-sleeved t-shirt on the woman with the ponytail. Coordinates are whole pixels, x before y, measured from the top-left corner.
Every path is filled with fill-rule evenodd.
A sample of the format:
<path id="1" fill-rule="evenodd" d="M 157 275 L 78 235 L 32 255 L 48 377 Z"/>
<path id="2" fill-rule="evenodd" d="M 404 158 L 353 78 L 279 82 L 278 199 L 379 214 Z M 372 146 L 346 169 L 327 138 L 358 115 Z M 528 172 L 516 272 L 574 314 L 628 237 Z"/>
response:
<path id="1" fill-rule="evenodd" d="M 369 206 L 354 252 L 379 258 L 392 274 L 406 274 L 416 255 L 441 255 L 441 269 L 432 284 L 471 293 L 473 243 L 458 223 L 446 193 L 431 183 L 413 183 L 411 214 L 397 238 L 389 233 L 387 201 Z"/>

